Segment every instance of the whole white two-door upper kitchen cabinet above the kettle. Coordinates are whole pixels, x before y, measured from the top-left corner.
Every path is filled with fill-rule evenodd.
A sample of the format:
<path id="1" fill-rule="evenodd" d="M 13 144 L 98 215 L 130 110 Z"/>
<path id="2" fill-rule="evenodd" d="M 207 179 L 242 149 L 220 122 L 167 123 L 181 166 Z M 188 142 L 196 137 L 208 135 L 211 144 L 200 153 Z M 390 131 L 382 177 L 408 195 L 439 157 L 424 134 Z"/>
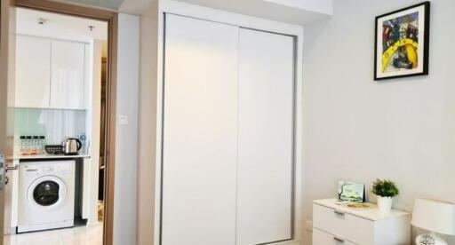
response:
<path id="1" fill-rule="evenodd" d="M 86 46 L 17 36 L 15 107 L 85 109 Z"/>

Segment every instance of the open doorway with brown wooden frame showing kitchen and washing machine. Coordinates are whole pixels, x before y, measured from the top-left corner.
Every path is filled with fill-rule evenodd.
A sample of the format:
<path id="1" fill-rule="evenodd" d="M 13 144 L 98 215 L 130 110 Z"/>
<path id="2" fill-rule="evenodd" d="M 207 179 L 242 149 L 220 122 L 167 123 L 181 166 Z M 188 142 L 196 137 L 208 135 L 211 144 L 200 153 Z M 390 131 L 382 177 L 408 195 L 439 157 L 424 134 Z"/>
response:
<path id="1" fill-rule="evenodd" d="M 12 90 L 13 151 L 12 155 L 6 156 L 9 167 L 6 176 L 10 181 L 5 186 L 4 216 L 10 220 L 5 221 L 5 233 L 9 235 L 5 236 L 4 244 L 23 241 L 39 244 L 46 236 L 65 241 L 65 244 L 86 239 L 91 244 L 112 244 L 117 15 L 51 1 L 18 0 L 15 7 L 18 30 L 15 63 L 19 75 L 16 72 Z M 81 40 L 77 36 L 77 25 L 61 26 L 67 19 L 84 22 L 80 26 L 90 34 L 104 31 L 105 38 L 93 35 L 92 40 Z M 27 32 L 22 23 L 25 20 L 36 27 Z M 46 32 L 49 26 L 59 25 L 66 30 L 57 31 L 56 36 Z M 36 57 L 49 59 L 40 62 L 33 59 Z M 36 67 L 39 71 L 34 70 Z M 84 84 L 77 81 L 84 81 Z M 61 147 L 62 141 L 66 146 Z M 76 153 L 71 151 L 73 145 Z M 52 159 L 48 159 L 48 155 L 52 155 Z M 44 179 L 48 175 L 58 178 Z M 27 185 L 34 186 L 35 191 L 30 194 L 20 191 L 21 188 L 30 189 L 24 187 Z M 17 188 L 12 190 L 12 186 Z M 27 209 L 25 200 L 28 204 L 30 200 L 36 200 L 36 203 L 30 204 L 35 205 L 29 212 L 33 215 L 24 217 L 20 213 L 21 209 Z M 51 220 L 51 225 L 33 224 L 34 218 L 43 219 L 37 211 L 43 208 L 41 206 L 62 209 L 67 202 L 74 205 L 71 207 L 75 217 L 73 224 L 63 218 L 67 213 L 58 212 L 52 215 L 61 220 Z M 44 212 L 42 215 L 50 217 Z M 11 222 L 14 218 L 17 218 L 16 223 Z M 32 223 L 24 223 L 24 220 Z M 66 225 L 60 224 L 64 221 Z M 74 227 L 66 228 L 68 226 Z M 75 237 L 75 233 L 82 236 Z M 52 243 L 52 240 L 48 241 Z"/>

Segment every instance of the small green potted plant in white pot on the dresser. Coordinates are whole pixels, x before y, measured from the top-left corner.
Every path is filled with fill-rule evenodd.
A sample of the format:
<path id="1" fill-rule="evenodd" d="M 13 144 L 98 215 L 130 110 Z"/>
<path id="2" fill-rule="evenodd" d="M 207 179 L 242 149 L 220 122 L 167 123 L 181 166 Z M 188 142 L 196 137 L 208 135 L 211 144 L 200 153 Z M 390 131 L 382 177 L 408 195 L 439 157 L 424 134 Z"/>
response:
<path id="1" fill-rule="evenodd" d="M 379 178 L 373 182 L 371 192 L 378 196 L 378 209 L 384 212 L 392 209 L 392 198 L 400 193 L 393 181 Z"/>

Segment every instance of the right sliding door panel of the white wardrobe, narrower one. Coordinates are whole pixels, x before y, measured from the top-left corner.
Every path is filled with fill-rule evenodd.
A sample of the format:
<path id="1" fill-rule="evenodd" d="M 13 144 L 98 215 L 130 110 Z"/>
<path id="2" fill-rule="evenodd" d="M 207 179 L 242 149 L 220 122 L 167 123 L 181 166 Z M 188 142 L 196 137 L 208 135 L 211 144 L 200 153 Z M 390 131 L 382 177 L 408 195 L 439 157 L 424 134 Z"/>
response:
<path id="1" fill-rule="evenodd" d="M 292 236 L 293 37 L 240 29 L 237 244 Z"/>

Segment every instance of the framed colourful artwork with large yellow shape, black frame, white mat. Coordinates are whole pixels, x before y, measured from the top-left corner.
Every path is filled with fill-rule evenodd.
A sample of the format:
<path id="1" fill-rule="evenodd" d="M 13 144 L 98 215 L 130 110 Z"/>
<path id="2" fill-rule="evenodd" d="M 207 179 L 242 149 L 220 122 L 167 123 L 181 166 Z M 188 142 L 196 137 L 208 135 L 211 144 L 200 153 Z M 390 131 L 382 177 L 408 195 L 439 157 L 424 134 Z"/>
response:
<path id="1" fill-rule="evenodd" d="M 430 3 L 376 17 L 374 80 L 428 75 Z"/>

